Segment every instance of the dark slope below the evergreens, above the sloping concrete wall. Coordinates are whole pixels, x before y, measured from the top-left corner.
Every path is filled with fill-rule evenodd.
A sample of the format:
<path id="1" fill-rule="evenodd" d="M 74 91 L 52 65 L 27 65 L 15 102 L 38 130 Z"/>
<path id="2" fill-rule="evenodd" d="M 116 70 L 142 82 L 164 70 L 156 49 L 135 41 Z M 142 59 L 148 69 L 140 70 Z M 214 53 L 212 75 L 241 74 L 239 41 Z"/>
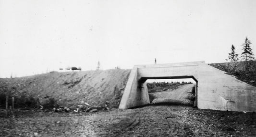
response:
<path id="1" fill-rule="evenodd" d="M 245 83 L 256 86 L 256 61 L 211 63 L 209 65 L 225 71 L 227 74 L 234 75 Z"/>

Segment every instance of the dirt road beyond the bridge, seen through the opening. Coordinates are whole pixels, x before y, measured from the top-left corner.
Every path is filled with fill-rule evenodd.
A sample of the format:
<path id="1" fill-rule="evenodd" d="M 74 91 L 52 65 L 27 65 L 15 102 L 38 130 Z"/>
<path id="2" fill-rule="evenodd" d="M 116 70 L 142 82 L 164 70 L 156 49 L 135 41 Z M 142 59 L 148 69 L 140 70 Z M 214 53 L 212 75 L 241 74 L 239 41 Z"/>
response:
<path id="1" fill-rule="evenodd" d="M 192 93 L 192 88 L 195 84 L 185 84 L 175 90 L 167 90 L 162 92 L 150 93 L 155 97 L 153 104 L 157 103 L 181 103 L 193 105 L 193 102 L 188 99 Z"/>

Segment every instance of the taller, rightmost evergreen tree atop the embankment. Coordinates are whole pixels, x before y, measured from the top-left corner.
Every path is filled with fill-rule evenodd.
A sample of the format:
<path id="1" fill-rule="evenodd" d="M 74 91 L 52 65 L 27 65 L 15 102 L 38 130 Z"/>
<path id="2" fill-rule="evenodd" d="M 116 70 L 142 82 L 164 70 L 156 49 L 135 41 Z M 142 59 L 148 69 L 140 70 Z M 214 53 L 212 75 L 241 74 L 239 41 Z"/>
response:
<path id="1" fill-rule="evenodd" d="M 250 47 L 250 44 L 252 44 L 248 38 L 246 37 L 245 38 L 245 42 L 243 43 L 243 53 L 241 54 L 241 57 L 242 58 L 241 60 L 244 60 L 244 61 L 250 61 L 250 60 L 254 60 L 254 54 L 252 52 L 252 49 Z"/>

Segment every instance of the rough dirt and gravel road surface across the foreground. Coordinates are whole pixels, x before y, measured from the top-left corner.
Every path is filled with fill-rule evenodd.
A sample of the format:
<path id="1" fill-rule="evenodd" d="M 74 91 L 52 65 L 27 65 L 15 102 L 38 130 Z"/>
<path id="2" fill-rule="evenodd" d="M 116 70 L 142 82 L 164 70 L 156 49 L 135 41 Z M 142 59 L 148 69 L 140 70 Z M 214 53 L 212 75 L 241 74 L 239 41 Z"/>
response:
<path id="1" fill-rule="evenodd" d="M 255 113 L 181 105 L 81 114 L 30 110 L 15 118 L 0 111 L 0 137 L 255 137 L 255 131 Z"/>

